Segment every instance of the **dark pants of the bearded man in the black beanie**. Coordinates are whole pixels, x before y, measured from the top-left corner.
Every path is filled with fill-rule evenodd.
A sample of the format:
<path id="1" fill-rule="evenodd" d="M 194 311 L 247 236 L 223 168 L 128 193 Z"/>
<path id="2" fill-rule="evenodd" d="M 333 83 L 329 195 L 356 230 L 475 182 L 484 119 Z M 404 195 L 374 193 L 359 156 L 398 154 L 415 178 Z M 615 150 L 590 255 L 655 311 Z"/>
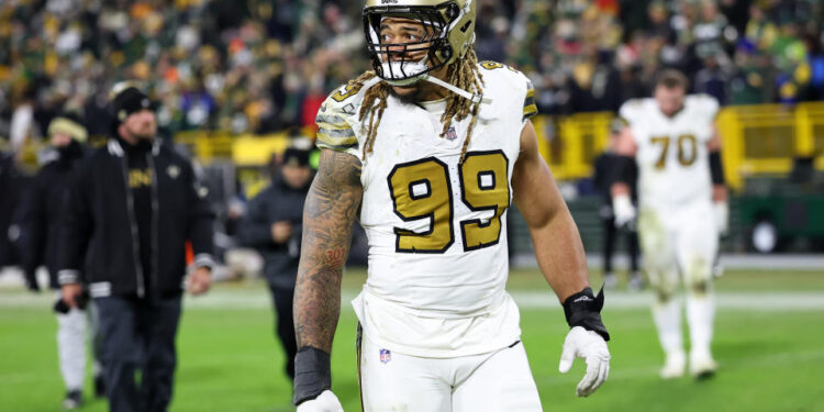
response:
<path id="1" fill-rule="evenodd" d="M 109 410 L 166 411 L 171 402 L 180 297 L 97 298 Z M 141 371 L 140 387 L 135 372 Z"/>

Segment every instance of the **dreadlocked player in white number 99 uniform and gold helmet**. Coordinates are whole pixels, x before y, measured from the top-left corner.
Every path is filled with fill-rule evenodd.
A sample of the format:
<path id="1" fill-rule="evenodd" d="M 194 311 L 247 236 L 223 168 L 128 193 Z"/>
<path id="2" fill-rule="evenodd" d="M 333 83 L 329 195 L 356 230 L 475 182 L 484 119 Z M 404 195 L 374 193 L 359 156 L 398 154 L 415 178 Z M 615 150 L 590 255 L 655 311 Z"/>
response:
<path id="1" fill-rule="evenodd" d="M 321 107 L 320 169 L 303 218 L 294 294 L 294 403 L 339 411 L 330 353 L 357 218 L 368 279 L 353 301 L 366 411 L 541 411 L 505 292 L 506 211 L 531 230 L 571 330 L 586 397 L 609 371 L 603 296 L 589 288 L 578 230 L 537 149 L 527 78 L 478 63 L 474 0 L 367 0 L 374 71 Z"/>

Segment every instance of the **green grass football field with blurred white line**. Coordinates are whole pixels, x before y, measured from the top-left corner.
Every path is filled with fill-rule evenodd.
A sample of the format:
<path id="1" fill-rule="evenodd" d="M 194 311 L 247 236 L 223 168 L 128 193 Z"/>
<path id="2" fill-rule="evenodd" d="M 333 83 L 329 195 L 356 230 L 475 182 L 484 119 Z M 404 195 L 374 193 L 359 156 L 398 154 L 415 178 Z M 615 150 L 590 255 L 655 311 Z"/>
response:
<path id="1" fill-rule="evenodd" d="M 363 272 L 347 272 L 344 299 L 361 281 Z M 575 397 L 580 360 L 568 375 L 557 370 L 567 326 L 543 279 L 535 270 L 516 270 L 510 290 L 521 305 L 523 342 L 546 411 L 824 411 L 822 272 L 728 271 L 719 279 L 714 352 L 721 368 L 701 382 L 658 378 L 662 354 L 647 309 L 650 293 L 608 293 L 603 319 L 613 336 L 612 369 L 588 399 Z M 52 298 L 0 290 L 0 411 L 59 410 Z M 355 324 L 345 304 L 332 367 L 347 411 L 360 408 Z M 292 410 L 263 283 L 219 285 L 208 297 L 188 299 L 178 353 L 172 411 Z M 91 400 L 82 410 L 104 411 L 105 402 Z"/>

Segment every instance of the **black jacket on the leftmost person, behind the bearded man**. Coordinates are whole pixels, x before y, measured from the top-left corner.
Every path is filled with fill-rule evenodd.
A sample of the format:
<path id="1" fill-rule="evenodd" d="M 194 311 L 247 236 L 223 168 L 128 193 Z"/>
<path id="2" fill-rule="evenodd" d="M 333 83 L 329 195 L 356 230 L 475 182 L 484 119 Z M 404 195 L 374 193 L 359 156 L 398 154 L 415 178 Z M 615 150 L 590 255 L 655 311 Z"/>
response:
<path id="1" fill-rule="evenodd" d="M 37 175 L 27 185 L 18 210 L 20 222 L 20 255 L 23 270 L 33 279 L 38 266 L 48 270 L 49 286 L 57 283 L 59 231 L 63 226 L 63 210 L 71 169 L 82 159 L 82 153 L 66 156 L 57 149 L 48 149 Z"/>

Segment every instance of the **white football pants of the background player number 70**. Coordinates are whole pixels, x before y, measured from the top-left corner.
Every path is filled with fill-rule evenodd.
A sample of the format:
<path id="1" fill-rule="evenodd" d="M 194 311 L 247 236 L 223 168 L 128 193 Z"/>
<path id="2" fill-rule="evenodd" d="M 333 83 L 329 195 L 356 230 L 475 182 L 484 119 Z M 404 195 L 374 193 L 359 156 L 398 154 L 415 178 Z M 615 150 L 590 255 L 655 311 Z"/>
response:
<path id="1" fill-rule="evenodd" d="M 709 200 L 667 211 L 644 208 L 639 211 L 644 265 L 656 293 L 653 316 L 667 353 L 683 350 L 681 309 L 673 299 L 679 280 L 687 288 L 691 349 L 710 352 L 715 309 L 712 264 L 719 248 L 713 219 Z"/>

